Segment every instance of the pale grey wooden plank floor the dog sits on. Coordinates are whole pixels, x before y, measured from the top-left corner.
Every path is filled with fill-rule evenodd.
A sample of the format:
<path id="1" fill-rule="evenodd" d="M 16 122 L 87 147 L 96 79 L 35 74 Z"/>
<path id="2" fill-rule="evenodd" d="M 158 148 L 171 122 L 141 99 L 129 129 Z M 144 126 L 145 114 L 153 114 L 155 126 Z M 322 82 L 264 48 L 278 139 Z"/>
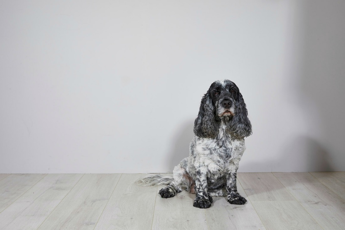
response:
<path id="1" fill-rule="evenodd" d="M 345 229 L 345 172 L 238 173 L 248 202 L 163 199 L 143 174 L 0 174 L 0 229 Z"/>

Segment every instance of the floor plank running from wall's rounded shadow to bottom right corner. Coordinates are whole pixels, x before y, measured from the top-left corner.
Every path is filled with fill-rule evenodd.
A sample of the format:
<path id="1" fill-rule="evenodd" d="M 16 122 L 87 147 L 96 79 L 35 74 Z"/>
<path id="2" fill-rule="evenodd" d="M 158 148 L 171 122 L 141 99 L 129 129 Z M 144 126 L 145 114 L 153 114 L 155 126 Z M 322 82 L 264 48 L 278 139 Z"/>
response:
<path id="1" fill-rule="evenodd" d="M 308 172 L 274 173 L 324 229 L 345 229 L 345 201 Z"/>

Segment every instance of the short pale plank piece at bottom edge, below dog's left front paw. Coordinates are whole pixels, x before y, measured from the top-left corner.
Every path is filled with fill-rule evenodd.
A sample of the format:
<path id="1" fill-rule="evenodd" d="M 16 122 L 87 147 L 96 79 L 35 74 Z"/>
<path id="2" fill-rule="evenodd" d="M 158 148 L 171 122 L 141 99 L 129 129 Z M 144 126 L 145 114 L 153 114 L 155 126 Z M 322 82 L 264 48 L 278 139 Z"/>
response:
<path id="1" fill-rule="evenodd" d="M 168 198 L 169 199 L 169 198 Z M 152 224 L 153 230 L 206 230 L 207 219 L 205 211 L 170 211 L 155 212 Z"/>

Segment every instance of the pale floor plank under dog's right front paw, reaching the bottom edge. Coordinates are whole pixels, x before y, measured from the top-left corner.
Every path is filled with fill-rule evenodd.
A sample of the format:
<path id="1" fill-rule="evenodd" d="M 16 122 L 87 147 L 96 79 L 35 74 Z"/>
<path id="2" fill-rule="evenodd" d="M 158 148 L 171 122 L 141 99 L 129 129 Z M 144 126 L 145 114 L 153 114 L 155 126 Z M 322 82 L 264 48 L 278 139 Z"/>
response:
<path id="1" fill-rule="evenodd" d="M 238 181 L 237 190 L 247 199 L 244 205 L 230 204 L 227 197 L 213 197 L 212 206 L 205 210 L 209 229 L 265 230 L 264 224 Z"/>

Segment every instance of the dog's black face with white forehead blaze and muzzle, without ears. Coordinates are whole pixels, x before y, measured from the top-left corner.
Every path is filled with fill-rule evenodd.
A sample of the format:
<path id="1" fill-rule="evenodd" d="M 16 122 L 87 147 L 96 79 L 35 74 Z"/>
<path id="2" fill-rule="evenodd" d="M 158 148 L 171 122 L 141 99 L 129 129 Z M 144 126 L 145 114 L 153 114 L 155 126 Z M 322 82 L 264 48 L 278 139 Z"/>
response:
<path id="1" fill-rule="evenodd" d="M 229 80 L 215 81 L 210 86 L 210 97 L 216 117 L 233 117 L 236 113 L 238 88 Z"/>

